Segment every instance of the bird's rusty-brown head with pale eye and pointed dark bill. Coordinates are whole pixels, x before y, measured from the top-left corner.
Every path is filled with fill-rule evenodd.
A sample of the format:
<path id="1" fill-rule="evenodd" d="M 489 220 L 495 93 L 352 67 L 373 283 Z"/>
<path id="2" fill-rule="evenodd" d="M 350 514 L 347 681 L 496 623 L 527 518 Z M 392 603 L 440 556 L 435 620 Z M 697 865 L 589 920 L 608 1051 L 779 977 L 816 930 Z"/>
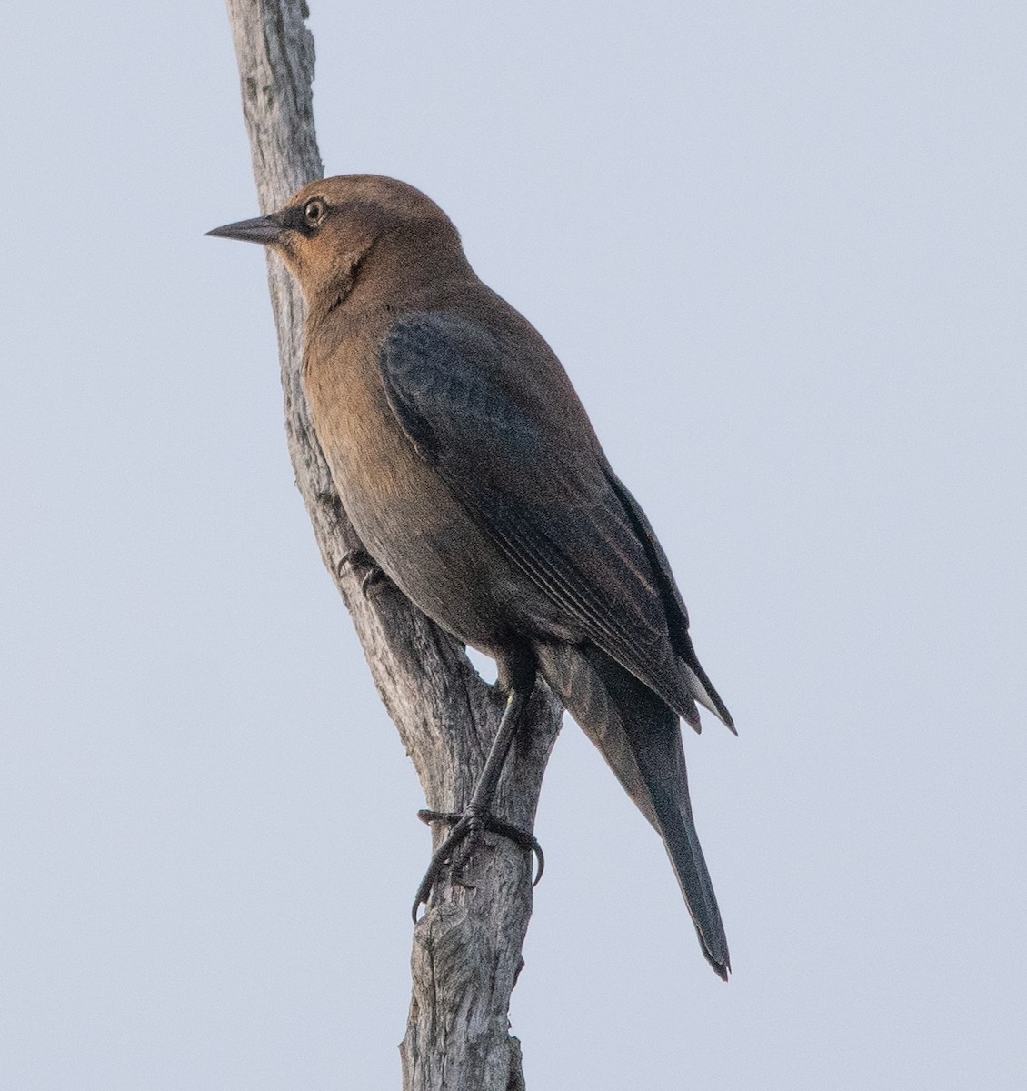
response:
<path id="1" fill-rule="evenodd" d="M 207 235 L 270 247 L 310 301 L 326 291 L 348 296 L 377 250 L 391 251 L 389 264 L 408 275 L 425 261 L 431 265 L 440 252 L 462 257 L 457 230 L 434 201 L 406 182 L 377 175 L 311 182 L 280 211 Z"/>

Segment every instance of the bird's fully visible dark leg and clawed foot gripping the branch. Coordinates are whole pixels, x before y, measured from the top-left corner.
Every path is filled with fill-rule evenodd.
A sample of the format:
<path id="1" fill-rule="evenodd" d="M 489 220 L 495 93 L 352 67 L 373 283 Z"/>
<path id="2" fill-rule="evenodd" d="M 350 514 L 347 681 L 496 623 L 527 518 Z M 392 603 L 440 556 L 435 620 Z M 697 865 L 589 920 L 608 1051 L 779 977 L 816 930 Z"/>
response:
<path id="1" fill-rule="evenodd" d="M 456 850 L 464 842 L 467 842 L 464 849 L 468 852 L 473 851 L 474 844 L 483 830 L 487 829 L 495 834 L 502 834 L 522 849 L 530 849 L 534 852 L 539 861 L 539 871 L 532 886 L 542 878 L 545 858 L 542 854 L 542 847 L 535 840 L 534 836 L 527 830 L 519 829 L 517 826 L 511 826 L 509 823 L 494 817 L 492 814 L 492 801 L 495 799 L 499 777 L 503 774 L 503 767 L 506 764 L 507 755 L 510 753 L 510 746 L 514 744 L 524 706 L 528 704 L 530 696 L 531 690 L 527 692 L 516 688 L 510 691 L 506 708 L 503 710 L 503 717 L 499 720 L 499 728 L 496 731 L 495 739 L 492 741 L 488 756 L 485 758 L 485 768 L 482 769 L 482 774 L 478 778 L 474 792 L 471 795 L 471 802 L 467 805 L 463 814 L 450 814 L 444 811 L 418 812 L 418 817 L 424 823 L 449 822 L 454 824 L 454 827 L 445 841 L 432 854 L 432 862 L 428 864 L 424 878 L 418 887 L 418 894 L 413 903 L 414 923 L 416 923 L 420 907 L 427 904 L 428 896 L 432 892 L 435 879 L 438 878 L 439 872 L 447 863 L 451 862 L 455 866 L 457 865 Z"/>

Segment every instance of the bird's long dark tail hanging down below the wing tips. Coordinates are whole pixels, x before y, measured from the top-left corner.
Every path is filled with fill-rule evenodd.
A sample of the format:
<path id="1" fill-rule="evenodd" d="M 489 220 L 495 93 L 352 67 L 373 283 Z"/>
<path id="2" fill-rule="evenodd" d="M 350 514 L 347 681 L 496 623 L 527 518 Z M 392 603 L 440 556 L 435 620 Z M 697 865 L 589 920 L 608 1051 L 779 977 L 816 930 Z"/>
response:
<path id="1" fill-rule="evenodd" d="M 702 951 L 726 981 L 727 937 L 692 819 L 677 714 L 595 648 L 546 644 L 536 651 L 549 687 L 663 838 Z"/>

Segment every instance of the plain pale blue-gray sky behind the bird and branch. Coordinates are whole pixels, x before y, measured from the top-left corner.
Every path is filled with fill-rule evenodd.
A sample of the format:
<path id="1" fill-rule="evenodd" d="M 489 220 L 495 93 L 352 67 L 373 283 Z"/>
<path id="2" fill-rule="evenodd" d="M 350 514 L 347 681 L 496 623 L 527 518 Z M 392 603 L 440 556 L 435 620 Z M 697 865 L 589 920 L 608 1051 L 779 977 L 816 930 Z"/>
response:
<path id="1" fill-rule="evenodd" d="M 394 175 L 570 372 L 735 715 L 730 942 L 568 724 L 530 1091 L 1027 1087 L 1022 3 L 312 0 Z M 220 3 L 0 64 L 0 1088 L 399 1086 L 422 798 L 292 484 Z"/>

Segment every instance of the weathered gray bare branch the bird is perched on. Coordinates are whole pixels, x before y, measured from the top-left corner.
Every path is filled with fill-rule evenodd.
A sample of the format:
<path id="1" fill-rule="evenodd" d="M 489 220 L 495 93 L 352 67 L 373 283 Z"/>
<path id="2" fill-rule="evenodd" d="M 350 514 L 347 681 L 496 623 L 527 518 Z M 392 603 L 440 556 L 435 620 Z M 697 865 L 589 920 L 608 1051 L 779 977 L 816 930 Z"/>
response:
<path id="1" fill-rule="evenodd" d="M 281 207 L 323 176 L 314 135 L 314 41 L 303 0 L 228 0 L 243 115 L 262 213 Z M 462 647 L 391 585 L 361 591 L 352 563 L 359 541 L 311 425 L 302 384 L 302 296 L 268 256 L 271 305 L 285 391 L 286 433 L 325 565 L 352 615 L 389 716 L 413 759 L 427 805 L 459 811 L 470 800 L 502 710 L 502 695 L 478 676 Z M 560 709 L 544 688 L 531 705 L 533 730 L 511 753 L 497 813 L 530 829 Z M 446 827 L 434 830 L 436 844 Z M 425 863 L 427 863 L 425 844 Z M 531 862 L 486 835 L 452 882 L 436 888 L 415 926 L 412 996 L 400 1045 L 404 1091 L 523 1088 L 520 1044 L 509 1034 L 510 993 L 531 915 Z M 420 876 L 411 875 L 411 894 Z"/>

